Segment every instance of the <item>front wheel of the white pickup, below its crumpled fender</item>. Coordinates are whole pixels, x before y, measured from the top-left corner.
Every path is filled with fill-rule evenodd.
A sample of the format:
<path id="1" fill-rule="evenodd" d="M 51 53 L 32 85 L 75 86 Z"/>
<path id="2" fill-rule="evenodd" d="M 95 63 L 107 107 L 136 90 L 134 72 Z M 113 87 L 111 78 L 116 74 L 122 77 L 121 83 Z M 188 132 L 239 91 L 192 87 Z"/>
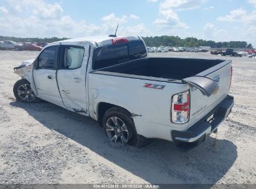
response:
<path id="1" fill-rule="evenodd" d="M 13 86 L 13 93 L 17 101 L 24 103 L 38 103 L 40 101 L 27 80 L 17 81 Z"/>

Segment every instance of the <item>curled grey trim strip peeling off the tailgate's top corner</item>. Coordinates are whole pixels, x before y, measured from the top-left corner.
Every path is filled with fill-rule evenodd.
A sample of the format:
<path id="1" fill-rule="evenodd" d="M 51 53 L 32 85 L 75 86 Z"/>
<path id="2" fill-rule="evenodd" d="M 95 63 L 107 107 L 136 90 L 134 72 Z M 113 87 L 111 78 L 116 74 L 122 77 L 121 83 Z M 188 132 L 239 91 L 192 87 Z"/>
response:
<path id="1" fill-rule="evenodd" d="M 211 96 L 211 94 L 217 93 L 219 85 L 216 81 L 205 76 L 191 76 L 182 80 L 184 83 L 188 83 L 191 87 L 198 88 L 202 94 Z"/>

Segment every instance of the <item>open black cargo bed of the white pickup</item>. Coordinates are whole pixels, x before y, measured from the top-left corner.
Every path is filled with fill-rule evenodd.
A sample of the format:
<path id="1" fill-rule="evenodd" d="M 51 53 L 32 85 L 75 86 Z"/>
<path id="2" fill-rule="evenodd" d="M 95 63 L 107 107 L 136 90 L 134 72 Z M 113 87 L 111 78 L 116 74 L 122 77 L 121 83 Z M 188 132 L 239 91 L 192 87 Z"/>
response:
<path id="1" fill-rule="evenodd" d="M 167 80 L 182 80 L 183 78 L 202 73 L 212 67 L 216 70 L 218 67 L 221 67 L 221 65 L 224 66 L 226 64 L 224 62 L 224 60 L 191 58 L 143 58 L 120 63 L 112 67 L 102 68 L 93 72 L 107 75 L 113 73 L 113 75 L 116 76 L 143 76 L 142 79 L 146 79 L 144 77 L 146 76 Z M 207 71 L 207 73 L 209 73 L 209 71 Z"/>

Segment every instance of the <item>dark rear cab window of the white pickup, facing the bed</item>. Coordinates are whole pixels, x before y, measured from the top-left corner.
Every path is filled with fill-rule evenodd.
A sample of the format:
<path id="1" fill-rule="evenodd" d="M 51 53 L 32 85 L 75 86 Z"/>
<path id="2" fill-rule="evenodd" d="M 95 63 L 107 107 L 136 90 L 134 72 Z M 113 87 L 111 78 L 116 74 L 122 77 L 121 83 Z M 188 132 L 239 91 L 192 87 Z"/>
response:
<path id="1" fill-rule="evenodd" d="M 142 40 L 131 40 L 125 44 L 111 44 L 96 47 L 93 53 L 93 70 L 118 65 L 130 60 L 146 57 Z"/>

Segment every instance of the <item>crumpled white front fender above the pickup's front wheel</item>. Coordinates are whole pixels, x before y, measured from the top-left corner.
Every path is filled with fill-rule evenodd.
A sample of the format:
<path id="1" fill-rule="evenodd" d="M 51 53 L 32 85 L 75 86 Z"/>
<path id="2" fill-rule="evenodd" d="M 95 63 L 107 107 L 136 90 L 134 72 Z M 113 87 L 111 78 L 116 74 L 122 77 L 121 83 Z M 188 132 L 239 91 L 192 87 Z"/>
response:
<path id="1" fill-rule="evenodd" d="M 33 78 L 33 67 L 34 67 L 34 59 L 26 60 L 21 63 L 19 67 L 14 68 L 14 73 L 21 76 L 22 79 L 29 81 L 31 83 L 31 88 L 37 96 L 36 86 L 34 85 Z"/>

